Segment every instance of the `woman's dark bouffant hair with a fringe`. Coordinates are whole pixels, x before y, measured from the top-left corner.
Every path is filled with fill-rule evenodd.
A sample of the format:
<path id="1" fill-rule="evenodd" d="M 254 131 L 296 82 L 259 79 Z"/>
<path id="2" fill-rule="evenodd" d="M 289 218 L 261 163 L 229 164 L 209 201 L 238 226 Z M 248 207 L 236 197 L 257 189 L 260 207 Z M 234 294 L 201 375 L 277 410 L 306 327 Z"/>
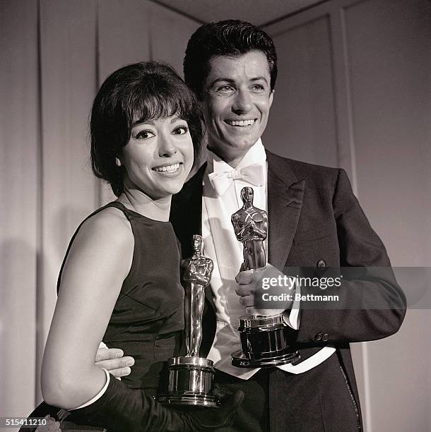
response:
<path id="1" fill-rule="evenodd" d="M 119 196 L 124 167 L 115 158 L 129 142 L 131 125 L 178 115 L 187 121 L 197 160 L 202 138 L 201 110 L 194 93 L 172 66 L 156 61 L 129 64 L 112 73 L 100 87 L 90 120 L 91 165 Z"/>

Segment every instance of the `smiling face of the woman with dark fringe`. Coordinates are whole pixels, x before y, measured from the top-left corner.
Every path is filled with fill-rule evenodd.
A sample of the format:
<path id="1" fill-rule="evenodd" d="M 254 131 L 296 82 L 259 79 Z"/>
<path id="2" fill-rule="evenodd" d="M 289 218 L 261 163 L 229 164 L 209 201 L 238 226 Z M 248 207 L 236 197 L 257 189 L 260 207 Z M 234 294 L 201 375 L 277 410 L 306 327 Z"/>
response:
<path id="1" fill-rule="evenodd" d="M 179 116 L 136 121 L 122 149 L 125 187 L 136 187 L 158 199 L 181 190 L 193 164 L 193 143 L 187 121 Z"/>

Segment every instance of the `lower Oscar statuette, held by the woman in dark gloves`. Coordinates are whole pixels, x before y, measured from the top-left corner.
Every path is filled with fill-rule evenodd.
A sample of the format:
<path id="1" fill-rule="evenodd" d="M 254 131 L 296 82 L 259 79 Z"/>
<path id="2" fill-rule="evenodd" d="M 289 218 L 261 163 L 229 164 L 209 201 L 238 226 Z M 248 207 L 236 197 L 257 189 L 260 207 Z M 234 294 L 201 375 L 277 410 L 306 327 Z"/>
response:
<path id="1" fill-rule="evenodd" d="M 202 255 L 201 236 L 194 235 L 192 241 L 193 256 L 182 261 L 187 354 L 169 359 L 168 389 L 156 396 L 156 400 L 163 404 L 216 408 L 219 402 L 213 395 L 213 361 L 199 357 L 204 290 L 211 280 L 213 261 Z"/>

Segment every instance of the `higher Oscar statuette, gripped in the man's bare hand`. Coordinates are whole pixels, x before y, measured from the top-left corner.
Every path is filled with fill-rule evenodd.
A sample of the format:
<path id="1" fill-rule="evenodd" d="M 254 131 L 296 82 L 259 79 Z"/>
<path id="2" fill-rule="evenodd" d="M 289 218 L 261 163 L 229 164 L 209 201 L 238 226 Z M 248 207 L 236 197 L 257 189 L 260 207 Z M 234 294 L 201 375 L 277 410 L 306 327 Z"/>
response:
<path id="1" fill-rule="evenodd" d="M 264 241 L 268 233 L 268 215 L 254 207 L 254 191 L 242 188 L 243 206 L 232 215 L 232 225 L 244 250 L 244 270 L 259 271 L 266 266 Z M 288 346 L 290 328 L 281 314 L 240 317 L 241 348 L 232 353 L 232 365 L 238 367 L 271 367 L 292 363 L 299 354 Z"/>

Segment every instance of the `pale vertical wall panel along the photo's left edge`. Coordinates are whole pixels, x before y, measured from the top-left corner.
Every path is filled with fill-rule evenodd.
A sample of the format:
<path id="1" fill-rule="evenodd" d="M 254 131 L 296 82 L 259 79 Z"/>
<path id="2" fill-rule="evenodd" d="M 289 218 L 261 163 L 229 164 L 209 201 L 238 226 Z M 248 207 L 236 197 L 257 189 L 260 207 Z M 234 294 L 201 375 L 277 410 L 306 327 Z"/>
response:
<path id="1" fill-rule="evenodd" d="M 6 416 L 25 414 L 35 401 L 37 4 L 0 2 L 0 35 L 0 416 Z"/>

